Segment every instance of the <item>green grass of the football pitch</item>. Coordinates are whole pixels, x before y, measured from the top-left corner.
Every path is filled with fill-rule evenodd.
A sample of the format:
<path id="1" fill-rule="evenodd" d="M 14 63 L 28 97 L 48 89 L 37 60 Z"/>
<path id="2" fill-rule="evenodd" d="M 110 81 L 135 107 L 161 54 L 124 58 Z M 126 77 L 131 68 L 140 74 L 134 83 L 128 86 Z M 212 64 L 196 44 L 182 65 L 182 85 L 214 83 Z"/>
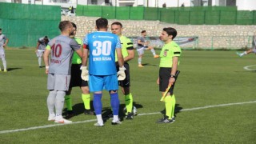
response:
<path id="1" fill-rule="evenodd" d="M 136 51 L 135 51 L 136 52 Z M 159 53 L 159 51 L 157 51 Z M 46 74 L 38 68 L 32 49 L 6 50 L 8 73 L 0 72 L 0 143 L 255 143 L 256 104 L 217 106 L 220 104 L 255 101 L 255 55 L 238 58 L 234 51 L 184 50 L 181 70 L 174 92 L 177 101 L 176 122 L 156 124 L 162 114 L 138 115 L 124 119 L 122 125 L 95 127 L 95 116 L 82 114 L 81 92 L 72 92 L 75 123 L 43 129 L 1 134 L 3 130 L 19 130 L 54 125 L 48 122 L 46 108 Z M 2 62 L 0 61 L 1 66 Z M 138 68 L 136 58 L 130 62 L 131 92 L 138 114 L 160 112 L 158 91 L 159 59 L 146 51 Z M 119 92 L 121 107 L 124 98 Z M 102 97 L 103 111 L 110 110 L 110 96 Z M 201 106 L 207 109 L 189 110 Z"/>

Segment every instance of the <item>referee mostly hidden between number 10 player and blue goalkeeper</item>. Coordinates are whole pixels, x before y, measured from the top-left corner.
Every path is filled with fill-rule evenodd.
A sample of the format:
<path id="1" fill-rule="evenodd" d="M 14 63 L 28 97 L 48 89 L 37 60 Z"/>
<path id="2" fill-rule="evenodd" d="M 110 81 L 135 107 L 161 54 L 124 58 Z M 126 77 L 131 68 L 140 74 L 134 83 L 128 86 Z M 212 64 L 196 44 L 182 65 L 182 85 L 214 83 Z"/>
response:
<path id="1" fill-rule="evenodd" d="M 71 22 L 73 25 L 73 33 L 70 34 L 70 38 L 74 38 L 78 45 L 82 45 L 82 40 L 79 38 L 75 38 L 75 34 L 77 31 L 77 26 L 74 22 Z M 72 66 L 71 66 L 71 79 L 70 79 L 70 89 L 66 92 L 65 102 L 66 102 L 66 109 L 67 109 L 67 117 L 71 118 L 74 116 L 74 111 L 72 108 L 72 99 L 70 97 L 72 87 L 80 86 L 82 90 L 82 101 L 85 106 L 84 114 L 91 114 L 93 115 L 94 112 L 90 110 L 90 91 L 88 87 L 88 82 L 82 80 L 81 78 L 81 70 L 80 67 L 82 66 L 82 59 L 79 57 L 77 53 L 73 54 L 72 58 Z"/>

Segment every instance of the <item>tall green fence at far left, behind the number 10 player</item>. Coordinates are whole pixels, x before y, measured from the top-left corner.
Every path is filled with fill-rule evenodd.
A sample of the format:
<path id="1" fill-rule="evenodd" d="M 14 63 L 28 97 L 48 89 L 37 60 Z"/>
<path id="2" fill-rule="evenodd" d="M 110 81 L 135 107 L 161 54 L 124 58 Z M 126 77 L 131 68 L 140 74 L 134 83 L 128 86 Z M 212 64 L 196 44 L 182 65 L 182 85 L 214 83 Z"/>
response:
<path id="1" fill-rule="evenodd" d="M 60 6 L 0 2 L 0 27 L 9 38 L 8 46 L 36 46 L 38 38 L 60 34 Z"/>

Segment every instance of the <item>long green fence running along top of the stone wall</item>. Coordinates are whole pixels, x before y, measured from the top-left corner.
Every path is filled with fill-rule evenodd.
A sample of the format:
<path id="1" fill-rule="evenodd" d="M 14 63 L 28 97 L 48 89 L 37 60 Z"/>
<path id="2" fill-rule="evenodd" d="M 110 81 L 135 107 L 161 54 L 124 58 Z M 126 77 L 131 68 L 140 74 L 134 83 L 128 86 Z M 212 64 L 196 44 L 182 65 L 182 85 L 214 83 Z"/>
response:
<path id="1" fill-rule="evenodd" d="M 255 25 L 256 10 L 237 10 L 236 6 L 193 6 L 174 8 L 132 6 L 82 6 L 78 16 L 121 20 L 159 20 L 180 25 Z"/>

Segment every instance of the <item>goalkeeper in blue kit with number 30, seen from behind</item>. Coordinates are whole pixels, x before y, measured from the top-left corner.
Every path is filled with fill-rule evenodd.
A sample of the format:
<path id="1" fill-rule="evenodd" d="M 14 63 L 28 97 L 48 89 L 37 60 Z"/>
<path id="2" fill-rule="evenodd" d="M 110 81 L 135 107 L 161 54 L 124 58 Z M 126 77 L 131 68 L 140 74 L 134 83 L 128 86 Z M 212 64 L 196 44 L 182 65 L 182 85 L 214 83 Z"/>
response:
<path id="1" fill-rule="evenodd" d="M 94 92 L 94 111 L 97 117 L 97 123 L 94 126 L 104 126 L 102 120 L 102 90 L 108 90 L 110 93 L 110 104 L 113 110 L 112 125 L 118 125 L 119 121 L 119 98 L 118 98 L 118 80 L 126 78 L 125 68 L 123 66 L 122 46 L 118 35 L 107 32 L 108 21 L 106 18 L 98 18 L 96 27 L 98 31 L 87 34 L 83 39 L 82 54 L 82 79 L 88 80 L 91 92 Z M 89 58 L 89 72 L 86 68 L 87 56 Z M 118 56 L 117 73 L 115 65 L 115 52 Z M 118 77 L 117 77 L 118 76 Z"/>

